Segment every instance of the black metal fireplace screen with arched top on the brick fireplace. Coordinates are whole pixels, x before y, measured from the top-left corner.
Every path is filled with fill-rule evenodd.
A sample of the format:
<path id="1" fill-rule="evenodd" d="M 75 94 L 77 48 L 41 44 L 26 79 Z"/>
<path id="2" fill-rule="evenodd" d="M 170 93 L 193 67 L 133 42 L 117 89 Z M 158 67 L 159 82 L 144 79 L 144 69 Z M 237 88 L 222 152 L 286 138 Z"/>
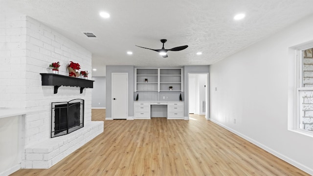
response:
<path id="1" fill-rule="evenodd" d="M 83 99 L 51 103 L 51 137 L 65 135 L 83 127 Z"/>

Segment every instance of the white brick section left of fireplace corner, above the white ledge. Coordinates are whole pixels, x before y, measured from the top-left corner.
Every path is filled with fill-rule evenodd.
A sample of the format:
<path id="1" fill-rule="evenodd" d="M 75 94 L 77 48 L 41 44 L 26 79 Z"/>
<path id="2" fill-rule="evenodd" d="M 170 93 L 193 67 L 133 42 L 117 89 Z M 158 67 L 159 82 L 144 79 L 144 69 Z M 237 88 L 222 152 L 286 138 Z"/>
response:
<path id="1" fill-rule="evenodd" d="M 25 107 L 26 17 L 0 14 L 0 107 Z"/>

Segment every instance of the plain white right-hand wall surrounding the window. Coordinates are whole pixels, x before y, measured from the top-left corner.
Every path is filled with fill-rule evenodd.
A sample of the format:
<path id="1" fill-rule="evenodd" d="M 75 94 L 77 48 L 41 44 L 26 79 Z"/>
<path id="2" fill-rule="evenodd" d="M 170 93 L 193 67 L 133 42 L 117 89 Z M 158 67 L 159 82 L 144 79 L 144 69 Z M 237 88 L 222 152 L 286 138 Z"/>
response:
<path id="1" fill-rule="evenodd" d="M 210 118 L 313 174 L 313 138 L 288 130 L 290 47 L 310 40 L 313 15 L 210 66 Z"/>

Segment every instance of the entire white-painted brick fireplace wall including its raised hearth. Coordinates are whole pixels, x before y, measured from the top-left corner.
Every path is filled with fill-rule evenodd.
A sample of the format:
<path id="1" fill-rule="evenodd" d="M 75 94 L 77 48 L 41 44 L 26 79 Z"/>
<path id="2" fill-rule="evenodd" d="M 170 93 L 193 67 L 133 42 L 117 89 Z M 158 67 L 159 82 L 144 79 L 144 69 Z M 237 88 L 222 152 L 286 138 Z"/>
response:
<path id="1" fill-rule="evenodd" d="M 48 66 L 53 62 L 60 62 L 62 75 L 68 75 L 66 66 L 70 61 L 79 63 L 81 70 L 91 72 L 88 50 L 30 17 L 2 12 L 0 46 L 0 113 L 3 115 L 3 108 L 7 108 L 6 112 L 24 111 L 0 117 L 0 131 L 6 129 L 2 125 L 4 121 L 12 126 L 11 129 L 19 129 L 18 134 L 5 137 L 18 141 L 19 154 L 15 155 L 19 158 L 14 161 L 18 163 L 12 163 L 8 168 L 0 167 L 0 175 L 12 173 L 19 167 L 49 168 L 103 132 L 103 122 L 91 121 L 90 88 L 80 93 L 79 87 L 61 86 L 54 94 L 53 86 L 41 85 L 40 73 L 51 72 Z M 51 102 L 77 98 L 85 100 L 84 128 L 50 138 Z M 0 135 L 1 140 L 5 141 Z M 6 148 L 10 148 L 9 144 Z M 6 159 L 11 162 L 4 157 Z"/>

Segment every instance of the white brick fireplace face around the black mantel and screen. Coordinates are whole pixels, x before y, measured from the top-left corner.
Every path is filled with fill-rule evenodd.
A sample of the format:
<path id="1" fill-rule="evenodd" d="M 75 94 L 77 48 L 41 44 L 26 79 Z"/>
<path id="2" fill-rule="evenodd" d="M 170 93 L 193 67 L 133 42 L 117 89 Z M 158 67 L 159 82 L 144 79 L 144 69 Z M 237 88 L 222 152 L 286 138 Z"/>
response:
<path id="1" fill-rule="evenodd" d="M 59 74 L 68 75 L 69 61 L 79 63 L 81 70 L 91 72 L 91 53 L 65 38 L 46 25 L 26 17 L 26 79 L 25 108 L 41 108 L 44 111 L 25 118 L 25 144 L 50 137 L 51 102 L 63 102 L 76 98 L 85 100 L 85 122 L 91 120 L 91 89 L 80 94 L 78 87 L 60 87 L 53 94 L 52 86 L 41 86 L 39 73 L 51 72 L 48 66 L 60 62 Z M 91 76 L 91 75 L 90 75 Z"/>

